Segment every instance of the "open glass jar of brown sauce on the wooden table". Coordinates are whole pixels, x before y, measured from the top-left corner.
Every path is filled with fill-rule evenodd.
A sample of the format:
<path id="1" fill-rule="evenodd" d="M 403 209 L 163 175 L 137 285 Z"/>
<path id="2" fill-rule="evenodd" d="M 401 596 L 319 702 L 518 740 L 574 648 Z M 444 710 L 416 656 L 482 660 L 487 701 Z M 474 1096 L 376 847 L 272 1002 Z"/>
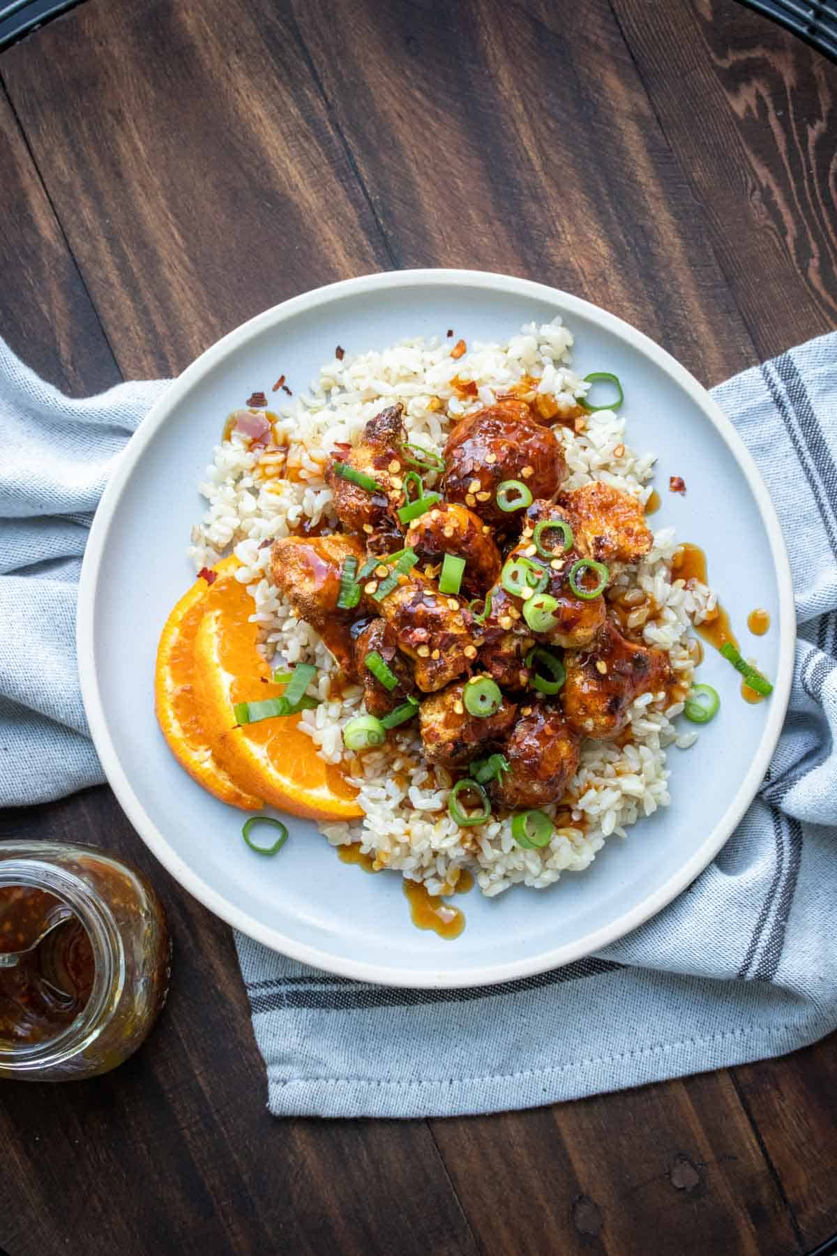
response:
<path id="1" fill-rule="evenodd" d="M 94 847 L 0 842 L 0 1078 L 63 1081 L 122 1064 L 166 1002 L 169 961 L 163 904 L 138 869 Z"/>

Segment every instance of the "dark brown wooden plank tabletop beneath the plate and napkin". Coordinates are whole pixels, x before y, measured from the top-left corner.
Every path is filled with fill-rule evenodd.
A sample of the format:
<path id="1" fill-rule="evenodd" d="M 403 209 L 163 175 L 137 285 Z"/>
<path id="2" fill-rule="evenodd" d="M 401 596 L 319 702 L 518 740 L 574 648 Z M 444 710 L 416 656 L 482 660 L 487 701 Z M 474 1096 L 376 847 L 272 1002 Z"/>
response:
<path id="1" fill-rule="evenodd" d="M 74 394 L 389 268 L 545 280 L 706 384 L 837 313 L 837 67 L 732 0 L 88 0 L 0 80 L 0 328 Z M 131 855 L 176 939 L 139 1055 L 3 1085 L 9 1256 L 778 1256 L 837 1231 L 834 1039 L 511 1115 L 280 1122 L 230 929 L 112 794 L 1 834 Z"/>

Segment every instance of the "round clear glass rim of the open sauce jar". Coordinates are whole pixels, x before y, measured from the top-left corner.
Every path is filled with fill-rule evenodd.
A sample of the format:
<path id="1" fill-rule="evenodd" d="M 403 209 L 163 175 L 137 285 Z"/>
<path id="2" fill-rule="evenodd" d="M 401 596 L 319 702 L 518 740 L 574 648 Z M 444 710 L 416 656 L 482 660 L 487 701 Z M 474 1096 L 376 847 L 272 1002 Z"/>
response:
<path id="1" fill-rule="evenodd" d="M 125 981 L 125 956 L 117 922 L 83 877 L 38 855 L 21 855 L 0 860 L 0 888 L 10 885 L 43 889 L 65 903 L 90 939 L 94 965 L 88 1001 L 55 1037 L 13 1050 L 0 1046 L 0 1068 L 6 1075 L 41 1071 L 87 1051 L 119 1002 Z"/>

